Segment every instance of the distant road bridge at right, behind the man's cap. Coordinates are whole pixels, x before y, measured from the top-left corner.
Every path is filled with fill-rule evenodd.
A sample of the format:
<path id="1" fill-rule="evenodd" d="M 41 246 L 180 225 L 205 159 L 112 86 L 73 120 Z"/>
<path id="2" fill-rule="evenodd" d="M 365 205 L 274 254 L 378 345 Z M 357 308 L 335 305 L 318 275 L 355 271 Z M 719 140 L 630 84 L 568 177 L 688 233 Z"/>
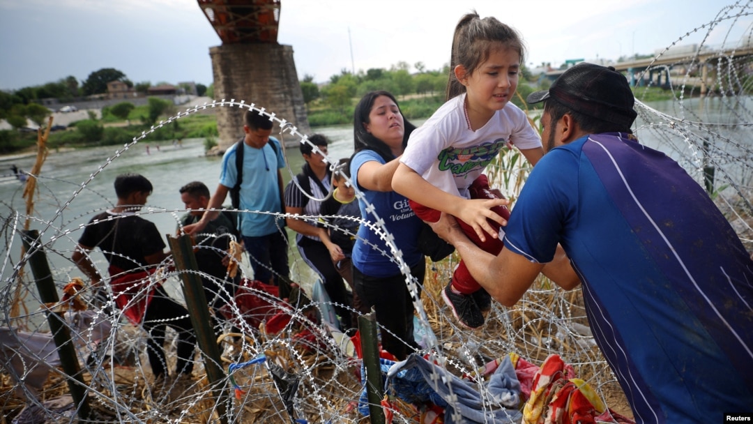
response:
<path id="1" fill-rule="evenodd" d="M 651 57 L 650 59 L 635 59 L 625 62 L 611 63 L 614 69 L 626 73 L 630 81 L 630 86 L 643 84 L 644 81 L 651 81 L 652 85 L 664 87 L 669 84 L 670 71 L 675 67 L 684 68 L 684 74 L 687 72 L 700 70 L 700 76 L 697 78 L 683 79 L 688 81 L 697 81 L 700 85 L 700 94 L 706 95 L 709 87 L 709 65 L 716 66 L 719 61 L 732 62 L 733 59 L 739 59 L 745 56 L 753 55 L 753 45 L 744 45 L 739 47 L 727 48 L 701 48 L 700 50 L 666 50 L 661 56 Z M 559 78 L 559 75 L 565 72 L 564 69 L 558 69 L 546 73 L 546 77 L 552 81 Z M 664 79 L 662 81 L 662 77 Z M 641 78 L 641 81 L 639 81 Z"/>

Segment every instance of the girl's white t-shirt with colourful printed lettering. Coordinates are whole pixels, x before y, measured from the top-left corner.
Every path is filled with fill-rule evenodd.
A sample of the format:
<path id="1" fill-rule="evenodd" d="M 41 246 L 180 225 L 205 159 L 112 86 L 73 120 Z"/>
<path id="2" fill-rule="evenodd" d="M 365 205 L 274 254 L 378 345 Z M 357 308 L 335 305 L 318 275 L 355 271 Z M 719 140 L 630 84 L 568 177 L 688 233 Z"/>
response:
<path id="1" fill-rule="evenodd" d="M 481 128 L 468 128 L 465 93 L 448 100 L 408 139 L 400 161 L 434 187 L 469 198 L 468 187 L 508 142 L 519 149 L 541 147 L 526 113 L 509 103 Z"/>

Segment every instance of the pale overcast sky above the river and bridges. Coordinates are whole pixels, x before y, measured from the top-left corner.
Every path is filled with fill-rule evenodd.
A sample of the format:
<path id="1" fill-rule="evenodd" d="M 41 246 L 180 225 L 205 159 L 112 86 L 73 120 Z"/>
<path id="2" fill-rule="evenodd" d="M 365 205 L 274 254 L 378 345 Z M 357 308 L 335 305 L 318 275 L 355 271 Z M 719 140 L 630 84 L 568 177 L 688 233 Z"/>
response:
<path id="1" fill-rule="evenodd" d="M 441 69 L 455 25 L 471 9 L 517 29 L 532 67 L 703 38 L 737 44 L 753 23 L 753 4 L 732 0 L 282 0 L 278 41 L 293 46 L 299 78 L 317 82 L 401 61 Z M 737 17 L 709 31 L 720 14 Z M 135 83 L 209 85 L 209 47 L 219 44 L 195 0 L 0 0 L 0 90 L 69 75 L 84 81 L 102 68 Z"/>

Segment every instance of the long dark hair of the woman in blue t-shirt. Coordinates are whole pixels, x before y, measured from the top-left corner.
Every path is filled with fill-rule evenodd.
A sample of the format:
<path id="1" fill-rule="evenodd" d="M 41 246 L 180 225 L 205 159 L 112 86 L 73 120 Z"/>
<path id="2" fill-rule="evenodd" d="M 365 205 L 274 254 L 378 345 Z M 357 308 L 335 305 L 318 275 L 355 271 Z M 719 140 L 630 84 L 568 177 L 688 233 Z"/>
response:
<path id="1" fill-rule="evenodd" d="M 395 105 L 398 105 L 398 100 L 395 99 L 395 96 L 392 96 L 389 91 L 385 90 L 371 91 L 361 97 L 361 101 L 355 106 L 355 114 L 353 114 L 353 154 L 362 150 L 373 150 L 376 151 L 386 162 L 389 162 L 390 160 L 395 159 L 395 155 L 392 154 L 389 146 L 369 133 L 366 130 L 366 127 L 364 127 L 364 124 L 370 124 L 369 114 L 371 113 L 371 108 L 373 108 L 374 101 L 380 96 L 387 96 L 395 102 Z M 400 105 L 398 105 L 398 111 L 399 110 Z M 400 114 L 403 114 L 403 111 L 400 111 Z M 405 116 L 403 116 L 403 124 L 405 130 L 405 133 L 403 134 L 403 149 L 405 149 L 405 146 L 408 145 L 410 133 L 413 133 L 413 130 L 416 130 L 416 126 L 410 124 Z"/>

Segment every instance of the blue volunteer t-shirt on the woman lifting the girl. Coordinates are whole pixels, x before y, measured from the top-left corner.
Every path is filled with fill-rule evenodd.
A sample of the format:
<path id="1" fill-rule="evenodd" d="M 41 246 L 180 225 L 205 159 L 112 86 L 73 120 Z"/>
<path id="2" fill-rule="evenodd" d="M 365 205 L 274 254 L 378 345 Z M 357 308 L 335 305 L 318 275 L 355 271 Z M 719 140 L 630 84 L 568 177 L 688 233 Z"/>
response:
<path id="1" fill-rule="evenodd" d="M 382 157 L 374 151 L 364 150 L 355 154 L 350 164 L 350 175 L 353 175 L 354 180 L 358 179 L 356 177 L 358 169 L 364 163 L 372 160 L 385 163 Z M 413 265 L 422 261 L 423 254 L 419 252 L 416 244 L 421 230 L 421 220 L 408 206 L 407 198 L 395 193 L 395 191 L 371 191 L 362 188 L 360 185 L 358 190 L 364 194 L 365 200 L 373 205 L 377 215 L 385 221 L 387 230 L 395 237 L 395 246 L 402 252 L 403 261 L 409 267 L 413 267 Z M 375 221 L 374 216 L 366 212 L 366 203 L 363 200 L 358 200 L 358 207 L 361 209 L 361 218 L 371 222 Z M 380 249 L 387 252 L 387 255 L 385 256 L 373 249 L 370 246 L 371 244 L 379 246 Z M 358 227 L 358 238 L 355 240 L 355 246 L 353 246 L 352 262 L 358 270 L 361 270 L 361 273 L 367 276 L 387 277 L 400 273 L 400 268 L 392 260 L 392 255 L 385 241 L 366 225 Z"/>

